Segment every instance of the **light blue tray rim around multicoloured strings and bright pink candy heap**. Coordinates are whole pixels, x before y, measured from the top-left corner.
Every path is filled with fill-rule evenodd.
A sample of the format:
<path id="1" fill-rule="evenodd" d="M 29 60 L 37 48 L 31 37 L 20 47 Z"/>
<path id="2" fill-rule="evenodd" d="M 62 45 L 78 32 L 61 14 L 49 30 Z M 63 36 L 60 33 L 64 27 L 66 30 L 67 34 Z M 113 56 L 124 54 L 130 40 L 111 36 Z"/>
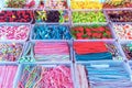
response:
<path id="1" fill-rule="evenodd" d="M 50 63 L 35 63 L 35 64 L 31 64 L 31 63 L 29 63 L 29 64 L 21 64 L 20 65 L 20 67 L 19 67 L 19 72 L 18 72 L 18 78 L 16 78 L 16 84 L 15 84 L 15 86 L 14 87 L 18 87 L 18 82 L 19 82 L 19 80 L 20 80 L 20 78 L 21 78 L 21 76 L 22 76 L 22 72 L 23 72 L 23 68 L 26 66 L 26 65 L 30 65 L 30 66 L 37 66 L 37 65 L 41 65 L 41 66 L 44 66 L 44 67 L 48 67 L 48 68 L 51 68 L 51 67 L 56 67 L 56 66 L 59 66 L 59 65 L 65 65 L 65 66 L 67 66 L 67 67 L 69 67 L 70 68 L 70 72 L 72 72 L 72 78 L 73 78 L 73 84 L 74 84 L 74 86 L 75 86 L 75 77 L 74 77 L 74 67 L 73 67 L 73 64 L 68 64 L 68 63 L 65 63 L 65 64 L 61 64 L 61 63 L 58 63 L 58 64 L 54 64 L 54 63 L 52 63 L 52 64 L 50 64 Z"/>

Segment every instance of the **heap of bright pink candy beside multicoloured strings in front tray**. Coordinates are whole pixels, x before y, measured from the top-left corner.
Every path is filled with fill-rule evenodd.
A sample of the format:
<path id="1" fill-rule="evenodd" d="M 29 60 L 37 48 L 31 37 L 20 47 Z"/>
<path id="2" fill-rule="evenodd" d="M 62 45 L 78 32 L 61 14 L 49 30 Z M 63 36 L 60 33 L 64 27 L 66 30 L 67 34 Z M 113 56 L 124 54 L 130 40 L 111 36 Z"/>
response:
<path id="1" fill-rule="evenodd" d="M 70 68 L 57 66 L 42 73 L 41 88 L 74 88 Z M 37 88 L 37 87 L 36 87 Z"/>

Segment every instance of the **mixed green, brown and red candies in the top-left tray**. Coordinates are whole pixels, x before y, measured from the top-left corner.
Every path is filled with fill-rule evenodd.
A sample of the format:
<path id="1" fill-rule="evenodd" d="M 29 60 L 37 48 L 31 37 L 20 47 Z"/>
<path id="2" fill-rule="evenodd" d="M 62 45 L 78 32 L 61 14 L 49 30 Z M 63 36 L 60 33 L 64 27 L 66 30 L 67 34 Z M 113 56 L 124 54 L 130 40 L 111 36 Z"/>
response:
<path id="1" fill-rule="evenodd" d="M 4 0 L 6 8 L 34 8 L 35 0 Z"/>

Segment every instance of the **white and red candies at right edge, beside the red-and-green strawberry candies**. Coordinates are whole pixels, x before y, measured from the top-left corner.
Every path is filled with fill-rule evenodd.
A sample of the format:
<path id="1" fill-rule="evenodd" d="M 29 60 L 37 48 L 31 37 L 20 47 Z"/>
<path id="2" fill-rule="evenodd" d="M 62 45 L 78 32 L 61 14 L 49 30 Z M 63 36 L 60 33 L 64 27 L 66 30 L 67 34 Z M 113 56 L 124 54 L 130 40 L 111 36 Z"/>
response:
<path id="1" fill-rule="evenodd" d="M 132 24 L 113 24 L 120 40 L 132 40 Z"/>

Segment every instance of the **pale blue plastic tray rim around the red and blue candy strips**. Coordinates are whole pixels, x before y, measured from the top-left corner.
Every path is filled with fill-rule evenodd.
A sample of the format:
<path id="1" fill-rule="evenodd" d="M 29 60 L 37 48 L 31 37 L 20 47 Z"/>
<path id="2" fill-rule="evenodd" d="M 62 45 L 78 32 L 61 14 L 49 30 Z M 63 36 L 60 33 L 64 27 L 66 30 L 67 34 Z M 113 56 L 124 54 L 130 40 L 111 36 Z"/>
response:
<path id="1" fill-rule="evenodd" d="M 74 42 L 84 42 L 84 41 L 74 41 Z M 119 54 L 119 56 L 121 56 L 122 57 L 122 59 L 121 61 L 125 61 L 125 57 L 124 57 L 124 55 L 123 55 L 123 53 L 122 53 L 122 50 L 121 50 L 121 46 L 120 46 L 120 44 L 118 43 L 118 42 L 116 42 L 116 41 L 107 41 L 107 40 L 103 40 L 103 41 L 100 41 L 100 40 L 89 40 L 89 41 L 87 41 L 87 42 L 105 42 L 105 43 L 107 43 L 107 44 L 113 44 L 116 47 L 117 47 L 117 51 L 118 51 L 118 54 Z M 79 62 L 79 63 L 84 63 L 84 62 L 92 62 L 92 61 L 76 61 L 76 55 L 75 55 L 76 53 L 75 53 L 75 51 L 74 51 L 74 53 L 73 53 L 73 57 L 74 57 L 74 61 L 75 62 Z M 113 58 L 112 58 L 113 59 Z M 98 61 L 100 61 L 100 59 L 98 59 Z M 109 59 L 108 59 L 109 61 Z M 120 62 L 119 59 L 113 59 L 113 61 L 118 61 L 118 62 Z"/>

